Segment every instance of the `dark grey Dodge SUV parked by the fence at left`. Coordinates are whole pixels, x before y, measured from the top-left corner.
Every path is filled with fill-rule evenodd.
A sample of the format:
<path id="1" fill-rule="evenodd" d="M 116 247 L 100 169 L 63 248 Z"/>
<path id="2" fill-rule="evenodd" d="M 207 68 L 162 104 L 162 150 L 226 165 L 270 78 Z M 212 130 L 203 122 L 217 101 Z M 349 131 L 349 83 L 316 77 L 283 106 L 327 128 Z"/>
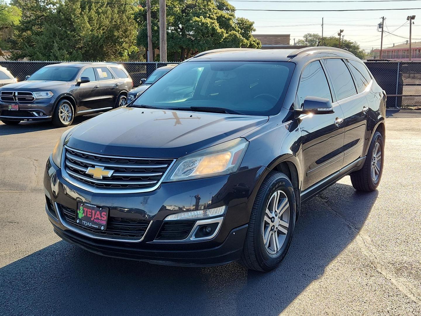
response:
<path id="1" fill-rule="evenodd" d="M 69 126 L 75 116 L 125 105 L 131 88 L 133 81 L 119 64 L 52 64 L 0 88 L 0 120 L 9 125 L 49 120 Z"/>

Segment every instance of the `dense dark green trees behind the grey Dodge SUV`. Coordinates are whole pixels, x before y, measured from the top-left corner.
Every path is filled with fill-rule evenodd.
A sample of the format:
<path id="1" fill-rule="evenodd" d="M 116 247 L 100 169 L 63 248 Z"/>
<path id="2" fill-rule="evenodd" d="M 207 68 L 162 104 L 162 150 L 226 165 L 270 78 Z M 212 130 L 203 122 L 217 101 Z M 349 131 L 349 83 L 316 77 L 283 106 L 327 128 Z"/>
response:
<path id="1" fill-rule="evenodd" d="M 20 52 L 13 57 L 127 61 L 138 50 L 133 20 L 136 6 L 67 0 L 13 1 L 22 9 L 15 42 Z"/>

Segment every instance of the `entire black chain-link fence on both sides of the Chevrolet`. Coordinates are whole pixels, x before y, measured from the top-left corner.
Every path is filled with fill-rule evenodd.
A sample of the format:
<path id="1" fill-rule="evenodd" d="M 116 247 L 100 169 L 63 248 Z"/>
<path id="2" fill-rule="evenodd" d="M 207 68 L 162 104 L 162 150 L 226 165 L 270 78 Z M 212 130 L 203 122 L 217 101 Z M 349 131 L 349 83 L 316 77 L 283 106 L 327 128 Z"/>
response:
<path id="1" fill-rule="evenodd" d="M 23 61 L 0 62 L 19 81 L 32 75 L 38 69 L 60 62 Z M 133 86 L 139 86 L 142 78 L 157 68 L 176 62 L 118 62 L 123 64 L 133 79 Z M 421 106 L 421 62 L 368 61 L 365 62 L 377 83 L 386 91 L 388 107 Z"/>

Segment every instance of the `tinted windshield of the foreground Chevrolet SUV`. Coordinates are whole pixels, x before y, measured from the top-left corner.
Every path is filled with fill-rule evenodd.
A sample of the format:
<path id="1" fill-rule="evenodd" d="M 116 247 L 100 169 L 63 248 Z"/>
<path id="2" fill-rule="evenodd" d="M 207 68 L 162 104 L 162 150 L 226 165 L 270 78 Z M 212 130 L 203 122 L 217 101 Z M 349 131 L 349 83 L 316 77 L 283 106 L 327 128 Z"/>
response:
<path id="1" fill-rule="evenodd" d="M 282 107 L 294 67 L 292 62 L 184 62 L 134 105 L 177 110 L 218 107 L 246 115 L 274 115 Z"/>

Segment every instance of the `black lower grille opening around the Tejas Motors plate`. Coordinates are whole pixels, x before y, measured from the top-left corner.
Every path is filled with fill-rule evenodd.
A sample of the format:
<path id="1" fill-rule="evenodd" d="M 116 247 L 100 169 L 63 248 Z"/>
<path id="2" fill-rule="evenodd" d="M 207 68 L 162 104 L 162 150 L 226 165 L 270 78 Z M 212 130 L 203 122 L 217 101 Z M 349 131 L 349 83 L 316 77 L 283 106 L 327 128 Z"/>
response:
<path id="1" fill-rule="evenodd" d="M 67 223 L 99 235 L 113 236 L 117 238 L 141 239 L 149 227 L 149 220 L 139 220 L 123 217 L 108 217 L 107 230 L 96 230 L 88 228 L 76 222 L 76 210 L 59 204 L 61 215 L 66 219 Z"/>

